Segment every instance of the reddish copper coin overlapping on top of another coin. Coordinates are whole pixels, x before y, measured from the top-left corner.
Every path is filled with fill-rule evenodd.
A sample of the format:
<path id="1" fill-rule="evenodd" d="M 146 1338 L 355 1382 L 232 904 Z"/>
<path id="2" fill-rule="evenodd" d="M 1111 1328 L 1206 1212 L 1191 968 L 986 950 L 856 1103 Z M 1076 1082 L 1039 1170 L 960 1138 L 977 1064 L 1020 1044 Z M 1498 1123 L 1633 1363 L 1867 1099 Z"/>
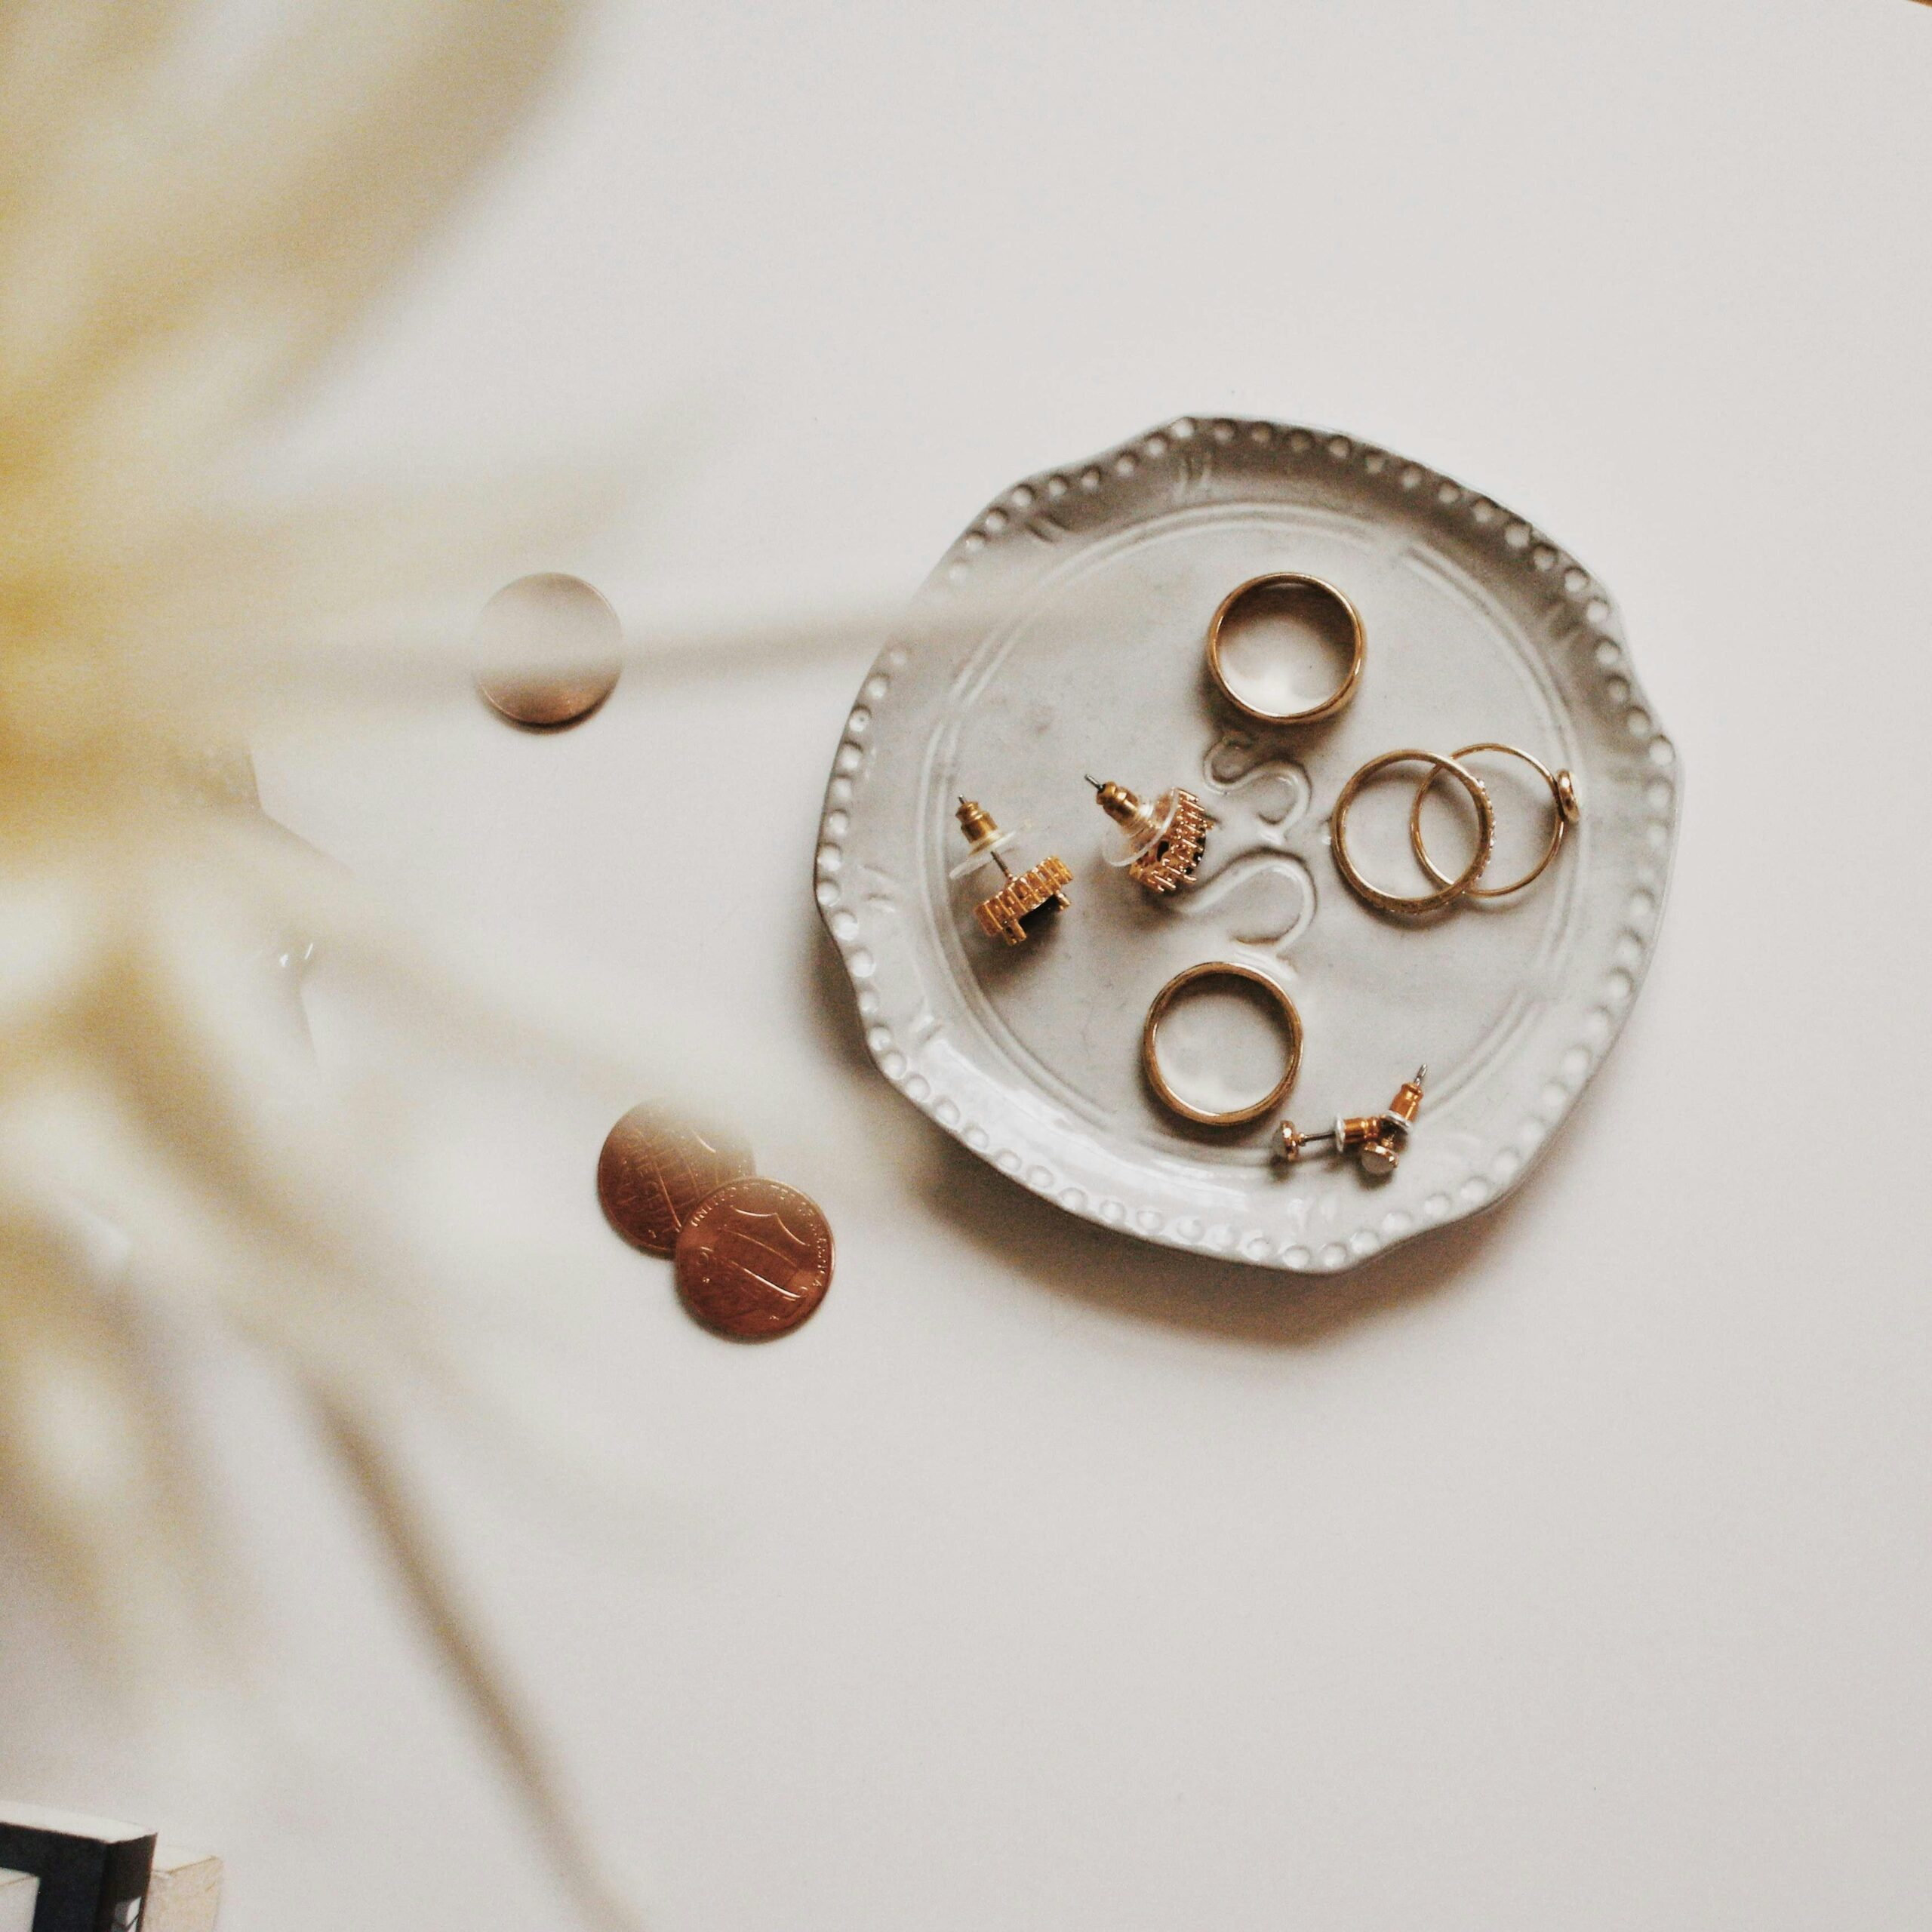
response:
<path id="1" fill-rule="evenodd" d="M 678 1294 L 730 1341 L 790 1335 L 833 1281 L 833 1231 L 817 1202 L 777 1180 L 732 1180 L 678 1235 Z"/>

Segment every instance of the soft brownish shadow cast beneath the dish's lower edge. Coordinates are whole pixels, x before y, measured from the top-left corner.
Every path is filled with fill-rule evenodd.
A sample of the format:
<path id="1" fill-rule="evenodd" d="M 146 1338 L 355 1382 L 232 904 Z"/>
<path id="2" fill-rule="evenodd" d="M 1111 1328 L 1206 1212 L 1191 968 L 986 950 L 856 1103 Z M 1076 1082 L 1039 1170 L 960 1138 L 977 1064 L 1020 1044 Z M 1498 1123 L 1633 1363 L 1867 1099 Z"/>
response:
<path id="1" fill-rule="evenodd" d="M 827 1037 L 837 1041 L 840 1057 L 877 1078 L 844 966 L 817 922 L 813 927 L 813 983 Z M 1341 1275 L 1289 1275 L 1119 1235 L 1032 1194 L 931 1121 L 922 1119 L 916 1128 L 910 1109 L 906 1130 L 929 1142 L 925 1184 L 933 1211 L 1051 1294 L 1136 1321 L 1269 1347 L 1310 1347 L 1356 1321 L 1453 1289 L 1507 1238 L 1522 1200 L 1520 1192 L 1505 1196 L 1480 1215 L 1403 1242 Z M 1561 1163 L 1567 1140 L 1559 1132 L 1542 1165 Z"/>

